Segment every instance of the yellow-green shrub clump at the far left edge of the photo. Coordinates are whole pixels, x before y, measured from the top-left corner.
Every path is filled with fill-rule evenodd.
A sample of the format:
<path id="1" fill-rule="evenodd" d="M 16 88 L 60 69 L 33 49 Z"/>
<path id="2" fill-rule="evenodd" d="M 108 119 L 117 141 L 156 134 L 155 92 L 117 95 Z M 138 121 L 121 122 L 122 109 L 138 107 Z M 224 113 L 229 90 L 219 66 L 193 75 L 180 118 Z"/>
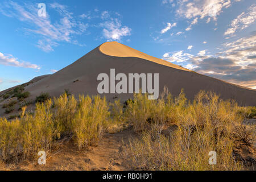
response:
<path id="1" fill-rule="evenodd" d="M 36 104 L 35 114 L 25 113 L 23 107 L 20 119 L 8 122 L 0 119 L 0 159 L 9 160 L 36 155 L 40 150 L 49 150 L 53 137 L 51 100 Z"/>

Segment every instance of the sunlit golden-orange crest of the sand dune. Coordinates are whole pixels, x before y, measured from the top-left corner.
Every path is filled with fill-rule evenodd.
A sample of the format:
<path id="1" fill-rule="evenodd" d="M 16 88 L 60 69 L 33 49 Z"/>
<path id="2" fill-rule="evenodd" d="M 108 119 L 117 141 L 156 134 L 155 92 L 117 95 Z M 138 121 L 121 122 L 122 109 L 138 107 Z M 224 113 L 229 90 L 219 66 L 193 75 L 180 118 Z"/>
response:
<path id="1" fill-rule="evenodd" d="M 184 71 L 189 71 L 191 72 L 189 69 L 180 67 L 179 65 L 170 63 L 166 60 L 162 60 L 159 59 L 157 57 L 153 57 L 150 55 L 147 55 L 146 53 L 143 53 L 141 51 L 138 51 L 134 48 L 125 46 L 121 43 L 118 42 L 105 42 L 103 44 L 101 44 L 101 46 L 99 47 L 99 50 L 104 53 L 105 55 L 108 56 L 115 56 L 115 57 L 138 57 L 144 60 L 148 60 L 148 61 L 152 61 L 154 63 L 158 63 L 158 64 L 162 64 L 165 65 L 167 67 L 171 67 L 171 68 L 176 68 L 176 69 L 181 69 Z"/>

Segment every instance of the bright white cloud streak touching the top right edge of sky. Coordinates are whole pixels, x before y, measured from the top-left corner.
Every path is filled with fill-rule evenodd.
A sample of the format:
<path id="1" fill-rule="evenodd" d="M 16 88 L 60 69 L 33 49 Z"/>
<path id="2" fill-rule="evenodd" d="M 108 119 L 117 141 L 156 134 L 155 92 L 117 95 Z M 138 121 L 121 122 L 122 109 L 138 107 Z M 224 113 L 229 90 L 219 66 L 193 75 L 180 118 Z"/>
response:
<path id="1" fill-rule="evenodd" d="M 256 5 L 251 5 L 247 10 L 247 13 L 243 12 L 238 15 L 236 19 L 230 24 L 230 28 L 226 30 L 224 35 L 234 34 L 237 30 L 243 30 L 246 27 L 249 27 L 250 24 L 254 23 L 256 19 Z"/>

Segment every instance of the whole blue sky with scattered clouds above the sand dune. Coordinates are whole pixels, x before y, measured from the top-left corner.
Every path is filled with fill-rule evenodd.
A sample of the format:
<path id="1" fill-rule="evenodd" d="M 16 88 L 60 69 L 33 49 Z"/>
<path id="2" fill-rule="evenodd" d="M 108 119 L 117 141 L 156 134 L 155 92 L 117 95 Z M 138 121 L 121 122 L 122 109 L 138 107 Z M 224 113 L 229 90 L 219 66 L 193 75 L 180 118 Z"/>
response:
<path id="1" fill-rule="evenodd" d="M 39 3 L 46 16 L 39 16 Z M 107 41 L 256 89 L 253 0 L 1 1 L 0 90 Z"/>

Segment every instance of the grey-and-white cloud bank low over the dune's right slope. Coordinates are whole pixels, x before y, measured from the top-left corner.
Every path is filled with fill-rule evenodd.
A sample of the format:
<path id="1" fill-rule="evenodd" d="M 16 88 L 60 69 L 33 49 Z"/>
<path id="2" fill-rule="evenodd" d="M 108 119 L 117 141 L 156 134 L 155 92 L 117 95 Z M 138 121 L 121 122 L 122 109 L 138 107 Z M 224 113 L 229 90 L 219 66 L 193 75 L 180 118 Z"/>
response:
<path id="1" fill-rule="evenodd" d="M 208 55 L 202 50 L 197 55 L 184 51 L 164 53 L 163 59 L 181 63 L 183 67 L 234 84 L 256 88 L 256 31 L 250 36 L 222 44 L 222 51 Z"/>

